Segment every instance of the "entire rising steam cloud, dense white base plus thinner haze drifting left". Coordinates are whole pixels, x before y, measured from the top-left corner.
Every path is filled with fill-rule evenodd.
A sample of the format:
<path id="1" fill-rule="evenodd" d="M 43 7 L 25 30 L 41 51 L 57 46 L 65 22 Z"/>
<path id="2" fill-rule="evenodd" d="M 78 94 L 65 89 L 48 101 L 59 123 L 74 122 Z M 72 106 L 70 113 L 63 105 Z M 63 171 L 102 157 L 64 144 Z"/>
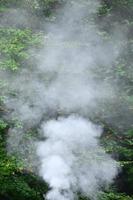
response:
<path id="1" fill-rule="evenodd" d="M 116 162 L 99 144 L 102 129 L 89 120 L 116 97 L 114 84 L 103 81 L 98 71 L 118 57 L 122 37 L 114 33 L 111 41 L 101 39 L 92 20 L 98 7 L 96 0 L 68 1 L 55 23 L 44 25 L 45 47 L 35 52 L 37 64 L 15 75 L 0 74 L 15 93 L 4 90 L 5 104 L 12 109 L 8 117 L 24 124 L 23 129 L 10 129 L 8 150 L 25 158 L 28 145 L 36 146 L 41 165 L 34 156 L 32 165 L 39 165 L 51 188 L 48 200 L 73 200 L 77 192 L 96 199 L 101 186 L 117 174 Z M 44 140 L 22 142 L 24 132 L 38 125 Z"/>

